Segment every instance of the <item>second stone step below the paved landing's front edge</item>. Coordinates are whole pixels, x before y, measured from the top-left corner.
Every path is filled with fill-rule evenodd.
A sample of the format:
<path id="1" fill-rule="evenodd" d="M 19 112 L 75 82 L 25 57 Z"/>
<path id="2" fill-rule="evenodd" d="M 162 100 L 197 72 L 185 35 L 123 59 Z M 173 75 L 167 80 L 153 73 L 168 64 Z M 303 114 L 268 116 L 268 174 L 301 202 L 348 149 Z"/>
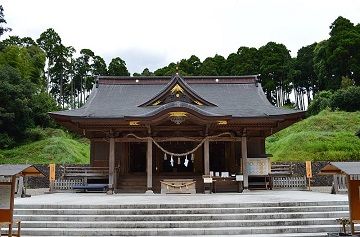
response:
<path id="1" fill-rule="evenodd" d="M 201 221 L 201 220 L 269 220 L 294 218 L 340 218 L 347 211 L 243 214 L 174 214 L 174 215 L 14 215 L 22 221 Z"/>

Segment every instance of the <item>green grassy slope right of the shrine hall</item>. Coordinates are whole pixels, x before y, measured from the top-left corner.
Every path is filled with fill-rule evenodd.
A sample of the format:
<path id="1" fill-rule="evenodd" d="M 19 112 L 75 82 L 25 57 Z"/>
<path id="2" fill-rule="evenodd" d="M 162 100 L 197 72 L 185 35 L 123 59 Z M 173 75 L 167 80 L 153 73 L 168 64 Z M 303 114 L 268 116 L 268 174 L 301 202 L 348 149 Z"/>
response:
<path id="1" fill-rule="evenodd" d="M 266 140 L 273 161 L 360 160 L 360 112 L 322 111 Z"/>

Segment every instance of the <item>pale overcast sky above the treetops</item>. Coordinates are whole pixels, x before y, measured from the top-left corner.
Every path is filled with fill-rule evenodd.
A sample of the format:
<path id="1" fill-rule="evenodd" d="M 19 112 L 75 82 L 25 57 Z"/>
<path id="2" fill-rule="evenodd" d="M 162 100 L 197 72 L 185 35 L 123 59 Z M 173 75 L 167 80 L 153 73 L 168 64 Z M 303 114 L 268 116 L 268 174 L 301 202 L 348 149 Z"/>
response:
<path id="1" fill-rule="evenodd" d="M 343 16 L 360 22 L 359 0 L 1 0 L 11 35 L 54 28 L 66 46 L 125 60 L 131 73 L 189 58 L 227 57 L 240 46 L 285 44 L 292 56 L 328 38 Z M 8 34 L 7 34 L 8 35 Z M 3 39 L 5 37 L 2 37 Z"/>

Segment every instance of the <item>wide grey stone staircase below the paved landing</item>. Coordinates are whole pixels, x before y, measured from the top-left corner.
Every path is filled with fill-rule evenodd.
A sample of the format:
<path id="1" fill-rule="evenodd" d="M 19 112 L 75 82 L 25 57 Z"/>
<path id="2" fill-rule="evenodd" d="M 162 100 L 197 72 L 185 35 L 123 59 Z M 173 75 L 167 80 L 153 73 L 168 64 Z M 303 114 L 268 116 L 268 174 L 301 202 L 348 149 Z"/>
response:
<path id="1" fill-rule="evenodd" d="M 201 198 L 201 197 L 200 197 Z M 23 236 L 327 236 L 347 202 L 17 205 Z"/>

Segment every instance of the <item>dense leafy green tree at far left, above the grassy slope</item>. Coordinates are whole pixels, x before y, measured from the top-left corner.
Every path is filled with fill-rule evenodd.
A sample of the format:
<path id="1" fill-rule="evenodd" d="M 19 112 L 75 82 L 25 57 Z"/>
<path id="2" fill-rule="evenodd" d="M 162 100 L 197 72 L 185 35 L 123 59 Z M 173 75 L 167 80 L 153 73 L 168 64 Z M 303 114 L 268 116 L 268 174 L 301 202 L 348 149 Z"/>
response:
<path id="1" fill-rule="evenodd" d="M 37 46 L 9 45 L 0 52 L 0 148 L 26 138 L 28 129 L 50 125 L 55 102 L 43 90 L 45 54 Z"/>

